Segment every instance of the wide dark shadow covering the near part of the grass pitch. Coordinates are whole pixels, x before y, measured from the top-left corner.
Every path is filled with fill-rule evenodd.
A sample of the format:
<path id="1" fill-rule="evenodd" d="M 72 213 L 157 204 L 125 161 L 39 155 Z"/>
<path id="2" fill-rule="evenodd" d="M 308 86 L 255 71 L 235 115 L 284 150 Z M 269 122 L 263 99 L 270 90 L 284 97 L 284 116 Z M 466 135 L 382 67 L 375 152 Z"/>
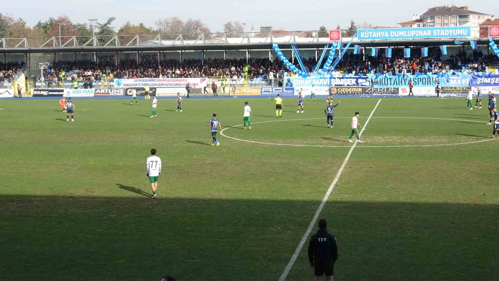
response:
<path id="1" fill-rule="evenodd" d="M 163 270 L 178 280 L 277 280 L 321 203 L 173 197 L 167 176 L 161 178 L 154 200 L 113 196 L 113 190 L 108 196 L 0 195 L 1 239 L 11 241 L 2 243 L 2 275 L 24 280 L 29 264 L 37 280 L 81 272 L 86 280 L 156 280 Z M 485 201 L 493 198 L 473 188 Z M 498 217 L 497 204 L 349 200 L 328 200 L 319 216 L 340 244 L 335 277 L 341 280 L 495 280 Z M 313 274 L 306 247 L 288 280 L 311 279 L 304 278 Z M 136 266 L 138 260 L 148 266 Z"/>

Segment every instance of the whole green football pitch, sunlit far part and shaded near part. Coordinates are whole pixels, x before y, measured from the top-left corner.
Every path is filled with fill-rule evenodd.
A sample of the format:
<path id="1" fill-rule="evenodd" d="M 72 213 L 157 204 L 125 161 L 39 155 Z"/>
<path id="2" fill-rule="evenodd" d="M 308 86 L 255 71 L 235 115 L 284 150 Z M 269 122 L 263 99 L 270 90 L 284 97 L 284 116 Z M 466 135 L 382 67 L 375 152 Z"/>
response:
<path id="1" fill-rule="evenodd" d="M 0 100 L 0 279 L 312 280 L 308 239 L 290 260 L 321 203 L 335 280 L 496 279 L 487 100 L 335 98 L 332 129 L 324 100 L 276 118 L 268 99 L 159 99 L 151 119 L 150 100 L 74 98 L 74 122 L 56 99 Z"/>

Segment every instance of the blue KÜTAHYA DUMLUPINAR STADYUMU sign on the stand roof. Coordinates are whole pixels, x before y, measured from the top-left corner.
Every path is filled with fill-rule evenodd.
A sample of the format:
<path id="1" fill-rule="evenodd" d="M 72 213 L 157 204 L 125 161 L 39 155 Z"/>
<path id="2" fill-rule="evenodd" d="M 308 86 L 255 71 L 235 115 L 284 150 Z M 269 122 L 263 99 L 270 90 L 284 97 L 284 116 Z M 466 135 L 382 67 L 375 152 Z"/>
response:
<path id="1" fill-rule="evenodd" d="M 471 26 L 358 29 L 359 40 L 469 38 Z"/>

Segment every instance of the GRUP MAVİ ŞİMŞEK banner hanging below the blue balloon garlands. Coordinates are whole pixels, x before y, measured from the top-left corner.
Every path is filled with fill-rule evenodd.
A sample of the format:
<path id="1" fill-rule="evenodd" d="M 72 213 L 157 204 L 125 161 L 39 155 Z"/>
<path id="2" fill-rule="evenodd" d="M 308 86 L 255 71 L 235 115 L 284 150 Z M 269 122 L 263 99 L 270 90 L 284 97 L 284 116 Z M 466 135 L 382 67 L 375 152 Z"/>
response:
<path id="1" fill-rule="evenodd" d="M 360 87 L 360 86 L 370 86 L 371 79 L 369 77 L 290 77 L 289 78 L 292 85 L 295 88 L 300 87 L 310 87 L 314 85 L 315 87 L 327 87 L 327 86 L 343 86 L 343 87 Z"/>

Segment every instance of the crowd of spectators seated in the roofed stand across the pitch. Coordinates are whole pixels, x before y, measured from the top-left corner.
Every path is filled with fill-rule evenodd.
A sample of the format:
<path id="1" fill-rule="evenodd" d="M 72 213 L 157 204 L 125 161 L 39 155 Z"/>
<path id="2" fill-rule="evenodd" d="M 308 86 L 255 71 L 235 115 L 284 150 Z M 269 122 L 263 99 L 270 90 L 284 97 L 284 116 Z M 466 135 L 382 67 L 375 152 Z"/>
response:
<path id="1" fill-rule="evenodd" d="M 466 52 L 464 49 L 458 54 L 441 55 L 438 47 L 429 48 L 428 56 L 419 55 L 418 49 L 413 50 L 413 56 L 405 58 L 403 49 L 393 49 L 392 57 L 386 57 L 384 49 L 380 49 L 378 56 L 347 53 L 336 69 L 344 69 L 345 73 L 391 73 L 410 74 L 415 72 L 437 73 L 448 71 L 486 71 L 489 63 L 497 65 L 498 58 L 493 54 L 484 54 L 480 51 Z M 315 58 L 303 59 L 309 71 L 317 64 Z M 320 63 L 322 66 L 323 62 Z M 297 64 L 296 64 L 297 65 Z M 298 66 L 298 65 L 297 65 Z M 12 68 L 12 66 L 10 66 Z M 282 80 L 289 71 L 277 58 L 250 58 L 242 59 L 185 59 L 179 60 L 121 60 L 117 65 L 114 61 L 94 62 L 54 61 L 46 69 L 40 80 L 50 81 L 104 81 L 113 78 L 186 78 L 186 77 L 218 77 L 236 82 L 245 79 L 276 79 Z M 468 70 L 469 71 L 469 70 Z M 277 84 L 277 83 L 275 83 Z"/>

